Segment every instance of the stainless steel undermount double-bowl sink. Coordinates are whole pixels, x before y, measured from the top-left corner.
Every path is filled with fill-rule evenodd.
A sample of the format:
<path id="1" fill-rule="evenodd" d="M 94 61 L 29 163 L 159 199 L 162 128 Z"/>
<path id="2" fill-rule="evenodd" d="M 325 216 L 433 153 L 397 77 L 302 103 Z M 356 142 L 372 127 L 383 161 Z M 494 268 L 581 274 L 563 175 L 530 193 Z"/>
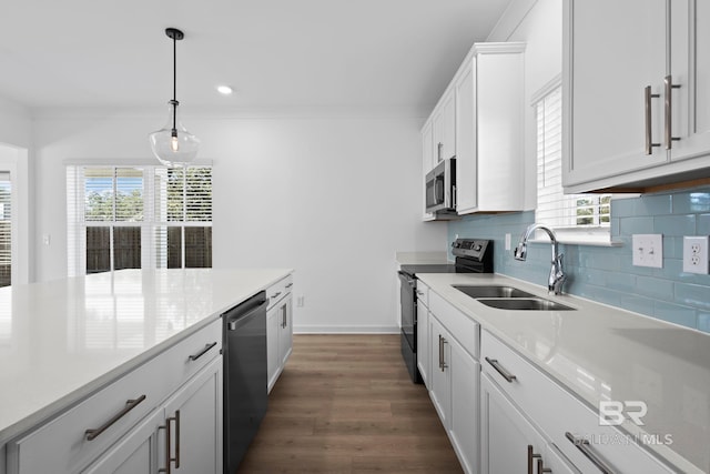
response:
<path id="1" fill-rule="evenodd" d="M 574 307 L 505 285 L 453 285 L 486 306 L 513 311 L 574 311 Z"/>

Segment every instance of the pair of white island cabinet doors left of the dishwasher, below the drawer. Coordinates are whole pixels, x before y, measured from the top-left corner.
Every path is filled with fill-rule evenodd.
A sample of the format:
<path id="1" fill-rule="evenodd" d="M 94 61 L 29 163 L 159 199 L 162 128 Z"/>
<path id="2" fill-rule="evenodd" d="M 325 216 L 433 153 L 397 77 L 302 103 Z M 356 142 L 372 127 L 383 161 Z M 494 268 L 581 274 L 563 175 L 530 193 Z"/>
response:
<path id="1" fill-rule="evenodd" d="M 168 467 L 170 466 L 170 467 Z M 222 472 L 222 360 L 215 359 L 84 474 Z"/>

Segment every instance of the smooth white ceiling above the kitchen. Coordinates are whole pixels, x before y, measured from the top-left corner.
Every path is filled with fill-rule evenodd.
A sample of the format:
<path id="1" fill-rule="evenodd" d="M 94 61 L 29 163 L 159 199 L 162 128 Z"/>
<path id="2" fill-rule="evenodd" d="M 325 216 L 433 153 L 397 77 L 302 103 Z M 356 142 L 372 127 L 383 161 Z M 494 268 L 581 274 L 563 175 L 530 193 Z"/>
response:
<path id="1" fill-rule="evenodd" d="M 3 0 L 0 95 L 31 108 L 430 109 L 509 0 Z M 215 91 L 229 84 L 235 93 Z"/>

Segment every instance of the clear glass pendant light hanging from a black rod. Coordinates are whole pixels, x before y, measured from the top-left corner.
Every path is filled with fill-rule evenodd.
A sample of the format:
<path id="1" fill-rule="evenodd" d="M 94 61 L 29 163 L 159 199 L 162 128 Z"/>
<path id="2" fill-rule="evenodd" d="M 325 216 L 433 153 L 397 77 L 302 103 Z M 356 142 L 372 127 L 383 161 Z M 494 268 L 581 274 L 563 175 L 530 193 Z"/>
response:
<path id="1" fill-rule="evenodd" d="M 173 40 L 173 99 L 168 102 L 168 123 L 156 132 L 149 135 L 151 149 L 155 158 L 166 167 L 184 167 L 192 162 L 200 148 L 200 139 L 190 133 L 178 118 L 176 82 L 178 82 L 178 48 L 179 40 L 184 38 L 182 31 L 176 28 L 165 29 L 168 38 Z"/>

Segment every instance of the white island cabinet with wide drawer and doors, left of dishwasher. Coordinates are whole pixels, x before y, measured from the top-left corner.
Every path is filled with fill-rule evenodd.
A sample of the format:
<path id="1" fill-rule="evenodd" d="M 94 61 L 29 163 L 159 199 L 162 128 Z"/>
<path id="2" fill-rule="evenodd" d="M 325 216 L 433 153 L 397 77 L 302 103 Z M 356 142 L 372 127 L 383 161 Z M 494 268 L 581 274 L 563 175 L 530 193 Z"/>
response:
<path id="1" fill-rule="evenodd" d="M 221 346 L 215 320 L 10 441 L 7 474 L 221 474 Z"/>

